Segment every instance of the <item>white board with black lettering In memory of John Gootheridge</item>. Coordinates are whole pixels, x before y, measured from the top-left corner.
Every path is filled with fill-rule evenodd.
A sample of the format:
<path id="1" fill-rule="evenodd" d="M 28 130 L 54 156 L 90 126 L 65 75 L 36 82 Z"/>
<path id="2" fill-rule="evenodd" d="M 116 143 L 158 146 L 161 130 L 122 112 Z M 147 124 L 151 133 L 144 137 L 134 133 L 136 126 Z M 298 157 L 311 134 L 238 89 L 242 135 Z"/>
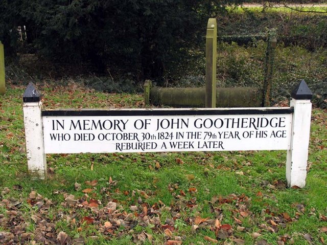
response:
<path id="1" fill-rule="evenodd" d="M 264 108 L 257 109 L 255 114 L 247 114 L 246 109 L 240 111 L 245 114 L 232 115 L 232 109 L 159 109 L 126 110 L 126 115 L 124 110 L 119 110 L 120 115 L 115 115 L 115 110 L 99 110 L 98 115 L 97 111 L 85 110 L 79 116 L 61 115 L 59 111 L 58 116 L 53 116 L 48 111 L 51 116 L 42 117 L 44 152 L 290 149 L 291 113 L 278 114 L 278 109 L 275 114 L 271 110 L 265 113 Z"/>

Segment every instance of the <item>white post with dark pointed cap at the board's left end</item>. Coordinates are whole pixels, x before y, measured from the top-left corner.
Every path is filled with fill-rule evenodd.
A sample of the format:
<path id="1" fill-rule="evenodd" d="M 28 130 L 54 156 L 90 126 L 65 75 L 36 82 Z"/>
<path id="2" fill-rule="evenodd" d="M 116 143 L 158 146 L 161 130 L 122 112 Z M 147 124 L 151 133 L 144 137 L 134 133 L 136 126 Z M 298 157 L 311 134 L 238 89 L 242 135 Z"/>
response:
<path id="1" fill-rule="evenodd" d="M 23 96 L 27 164 L 29 173 L 38 179 L 46 176 L 40 95 L 30 83 Z"/>

